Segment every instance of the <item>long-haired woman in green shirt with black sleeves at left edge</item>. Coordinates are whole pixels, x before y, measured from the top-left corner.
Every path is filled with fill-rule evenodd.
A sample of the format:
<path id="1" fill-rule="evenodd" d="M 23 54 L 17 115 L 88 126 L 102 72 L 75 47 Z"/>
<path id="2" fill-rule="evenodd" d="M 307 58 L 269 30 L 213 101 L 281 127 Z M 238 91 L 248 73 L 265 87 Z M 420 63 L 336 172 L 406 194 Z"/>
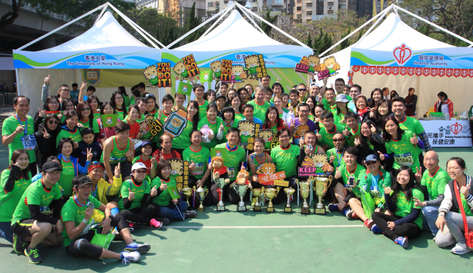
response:
<path id="1" fill-rule="evenodd" d="M 29 155 L 24 149 L 11 154 L 11 163 L 1 172 L 0 180 L 0 237 L 13 244 L 11 218 L 26 188 L 31 184 Z"/>

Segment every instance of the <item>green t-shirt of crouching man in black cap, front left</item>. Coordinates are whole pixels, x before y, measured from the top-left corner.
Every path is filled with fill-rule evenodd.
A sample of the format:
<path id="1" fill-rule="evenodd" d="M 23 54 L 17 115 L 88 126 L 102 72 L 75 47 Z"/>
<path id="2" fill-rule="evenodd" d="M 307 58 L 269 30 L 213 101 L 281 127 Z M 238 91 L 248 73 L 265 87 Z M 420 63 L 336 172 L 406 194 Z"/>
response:
<path id="1" fill-rule="evenodd" d="M 16 221 L 29 219 L 31 214 L 29 213 L 28 205 L 38 205 L 39 207 L 49 207 L 51 202 L 56 199 L 61 199 L 61 189 L 59 184 L 56 183 L 48 190 L 43 187 L 41 179 L 31 183 L 26 191 L 21 196 L 18 206 L 16 206 L 11 224 L 15 224 Z"/>

